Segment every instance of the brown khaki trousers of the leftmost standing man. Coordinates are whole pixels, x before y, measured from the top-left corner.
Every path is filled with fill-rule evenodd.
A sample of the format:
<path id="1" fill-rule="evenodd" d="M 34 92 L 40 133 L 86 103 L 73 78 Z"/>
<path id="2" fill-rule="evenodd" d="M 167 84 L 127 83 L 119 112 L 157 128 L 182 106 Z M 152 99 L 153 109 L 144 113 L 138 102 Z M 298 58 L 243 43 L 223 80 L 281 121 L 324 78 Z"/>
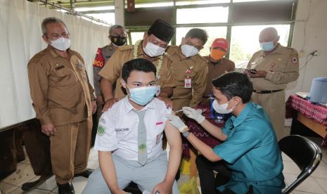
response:
<path id="1" fill-rule="evenodd" d="M 59 184 L 68 183 L 74 174 L 84 172 L 89 160 L 92 117 L 85 121 L 56 126 L 51 136 L 50 153 L 53 173 Z"/>

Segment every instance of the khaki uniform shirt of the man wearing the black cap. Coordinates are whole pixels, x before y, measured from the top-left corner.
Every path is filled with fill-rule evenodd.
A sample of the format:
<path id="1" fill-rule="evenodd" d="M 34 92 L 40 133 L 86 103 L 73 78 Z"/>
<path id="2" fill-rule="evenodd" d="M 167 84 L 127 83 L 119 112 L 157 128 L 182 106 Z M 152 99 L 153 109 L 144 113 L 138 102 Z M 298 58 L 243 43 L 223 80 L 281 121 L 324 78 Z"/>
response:
<path id="1" fill-rule="evenodd" d="M 145 58 L 145 54 L 142 49 L 142 42 L 139 44 L 137 58 Z M 126 96 L 126 91 L 122 88 L 120 84 L 120 79 L 122 79 L 122 65 L 129 60 L 134 59 L 134 46 L 125 45 L 120 46 L 116 49 L 113 56 L 110 57 L 105 66 L 99 72 L 101 77 L 108 79 L 109 82 L 115 83 L 115 98 L 124 98 Z M 156 67 L 158 65 L 159 58 L 155 58 L 152 62 Z M 162 65 L 160 72 L 157 72 L 157 75 L 160 76 L 159 84 L 161 88 L 165 87 L 174 87 L 174 73 L 172 70 L 172 60 L 165 53 L 162 58 Z"/>

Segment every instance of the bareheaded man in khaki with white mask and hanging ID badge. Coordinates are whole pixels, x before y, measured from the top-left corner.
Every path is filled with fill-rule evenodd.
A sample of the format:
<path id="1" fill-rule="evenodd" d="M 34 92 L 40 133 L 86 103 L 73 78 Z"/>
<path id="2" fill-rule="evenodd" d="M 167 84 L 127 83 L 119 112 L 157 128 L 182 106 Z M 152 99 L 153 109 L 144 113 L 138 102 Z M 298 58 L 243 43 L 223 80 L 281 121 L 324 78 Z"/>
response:
<path id="1" fill-rule="evenodd" d="M 207 42 L 207 32 L 193 28 L 186 33 L 180 46 L 169 46 L 172 57 L 175 88 L 172 94 L 174 110 L 184 106 L 195 108 L 205 92 L 207 61 L 198 52 Z"/>

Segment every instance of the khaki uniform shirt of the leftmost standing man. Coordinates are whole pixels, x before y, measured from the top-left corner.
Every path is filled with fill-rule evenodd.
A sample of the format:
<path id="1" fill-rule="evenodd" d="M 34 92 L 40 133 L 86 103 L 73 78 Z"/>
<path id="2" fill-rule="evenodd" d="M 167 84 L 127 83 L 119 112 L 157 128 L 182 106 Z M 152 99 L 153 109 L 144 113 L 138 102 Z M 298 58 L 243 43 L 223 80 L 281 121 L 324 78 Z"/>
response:
<path id="1" fill-rule="evenodd" d="M 70 49 L 68 58 L 48 46 L 27 65 L 33 107 L 41 124 L 60 126 L 84 121 L 92 115 L 94 89 L 89 84 L 84 60 Z"/>

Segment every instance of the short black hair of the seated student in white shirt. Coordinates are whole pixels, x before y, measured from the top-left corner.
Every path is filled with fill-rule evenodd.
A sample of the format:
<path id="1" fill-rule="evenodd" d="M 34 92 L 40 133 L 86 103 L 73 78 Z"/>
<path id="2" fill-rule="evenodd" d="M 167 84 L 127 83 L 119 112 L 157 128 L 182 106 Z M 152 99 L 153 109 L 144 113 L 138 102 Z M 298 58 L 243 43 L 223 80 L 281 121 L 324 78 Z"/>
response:
<path id="1" fill-rule="evenodd" d="M 125 82 L 127 82 L 127 78 L 132 71 L 153 72 L 155 75 L 157 74 L 155 65 L 144 58 L 135 58 L 122 65 L 122 79 L 124 79 Z"/>

